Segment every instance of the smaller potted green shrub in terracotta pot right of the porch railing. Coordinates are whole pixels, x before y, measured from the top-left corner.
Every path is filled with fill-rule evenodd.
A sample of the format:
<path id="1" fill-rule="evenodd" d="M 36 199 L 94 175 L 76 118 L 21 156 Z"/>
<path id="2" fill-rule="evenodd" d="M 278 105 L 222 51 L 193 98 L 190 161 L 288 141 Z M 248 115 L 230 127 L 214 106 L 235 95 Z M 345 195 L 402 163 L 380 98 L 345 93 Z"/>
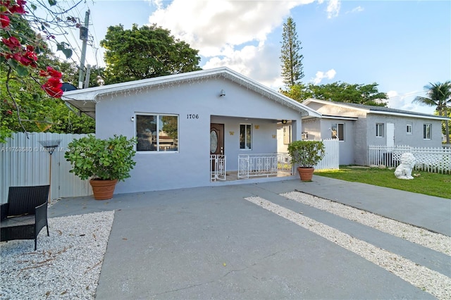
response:
<path id="1" fill-rule="evenodd" d="M 314 165 L 324 157 L 325 148 L 322 141 L 295 141 L 288 145 L 291 163 L 299 165 L 297 171 L 302 181 L 311 181 Z"/>

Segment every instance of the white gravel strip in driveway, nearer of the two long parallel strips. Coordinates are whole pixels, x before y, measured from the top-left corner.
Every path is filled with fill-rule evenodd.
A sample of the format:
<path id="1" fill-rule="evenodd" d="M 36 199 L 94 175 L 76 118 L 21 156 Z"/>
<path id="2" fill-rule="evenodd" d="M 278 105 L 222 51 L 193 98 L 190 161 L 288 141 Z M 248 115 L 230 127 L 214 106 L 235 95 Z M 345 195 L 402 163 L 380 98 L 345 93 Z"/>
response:
<path id="1" fill-rule="evenodd" d="M 362 256 L 367 261 L 371 261 L 371 263 L 385 268 L 385 270 L 401 277 L 402 280 L 409 282 L 414 287 L 423 289 L 438 299 L 451 299 L 450 277 L 426 268 L 423 265 L 417 265 L 407 258 L 378 248 L 373 244 L 351 237 L 340 230 L 307 218 L 288 208 L 273 204 L 271 201 L 260 197 L 249 197 L 245 199 Z"/>

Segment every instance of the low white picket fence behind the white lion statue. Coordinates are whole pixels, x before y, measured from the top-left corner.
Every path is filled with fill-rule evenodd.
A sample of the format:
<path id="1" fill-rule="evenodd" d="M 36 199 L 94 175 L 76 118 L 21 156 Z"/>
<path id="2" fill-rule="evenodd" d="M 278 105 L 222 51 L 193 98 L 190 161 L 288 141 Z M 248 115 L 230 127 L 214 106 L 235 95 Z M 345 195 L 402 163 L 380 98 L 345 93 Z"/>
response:
<path id="1" fill-rule="evenodd" d="M 395 168 L 404 153 L 412 153 L 416 158 L 415 169 L 434 173 L 451 173 L 451 148 L 426 148 L 411 146 L 369 146 L 369 165 L 385 165 Z"/>

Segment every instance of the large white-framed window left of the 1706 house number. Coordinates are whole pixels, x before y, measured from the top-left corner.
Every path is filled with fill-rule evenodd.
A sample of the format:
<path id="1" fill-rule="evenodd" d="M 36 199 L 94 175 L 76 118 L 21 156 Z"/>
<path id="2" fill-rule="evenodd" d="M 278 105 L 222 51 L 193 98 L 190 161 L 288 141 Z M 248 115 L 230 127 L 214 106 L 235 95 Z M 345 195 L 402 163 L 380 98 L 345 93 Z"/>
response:
<path id="1" fill-rule="evenodd" d="M 136 115 L 137 151 L 178 151 L 178 115 Z"/>

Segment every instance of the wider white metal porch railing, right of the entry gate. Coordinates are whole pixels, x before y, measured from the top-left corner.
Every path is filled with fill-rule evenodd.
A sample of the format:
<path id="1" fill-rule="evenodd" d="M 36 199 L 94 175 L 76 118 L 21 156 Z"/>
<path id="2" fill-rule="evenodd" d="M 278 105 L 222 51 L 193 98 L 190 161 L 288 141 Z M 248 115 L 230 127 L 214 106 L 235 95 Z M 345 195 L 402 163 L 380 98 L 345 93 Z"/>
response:
<path id="1" fill-rule="evenodd" d="M 288 154 L 239 154 L 238 178 L 278 175 L 279 171 L 292 173 Z"/>

